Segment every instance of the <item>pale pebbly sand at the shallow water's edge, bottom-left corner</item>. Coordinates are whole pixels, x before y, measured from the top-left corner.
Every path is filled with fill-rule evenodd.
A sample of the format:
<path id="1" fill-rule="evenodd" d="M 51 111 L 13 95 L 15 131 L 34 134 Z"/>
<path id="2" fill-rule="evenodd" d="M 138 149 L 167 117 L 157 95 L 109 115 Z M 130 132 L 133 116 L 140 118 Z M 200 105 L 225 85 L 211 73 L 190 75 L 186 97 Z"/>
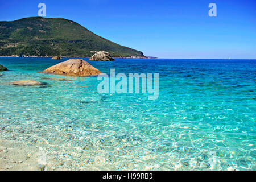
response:
<path id="1" fill-rule="evenodd" d="M 71 159 L 72 156 L 77 158 Z M 94 160 L 86 156 L 82 151 L 67 151 L 46 143 L 39 146 L 37 143 L 0 139 L 1 171 L 98 170 L 98 164 L 104 162 L 103 158 Z"/>

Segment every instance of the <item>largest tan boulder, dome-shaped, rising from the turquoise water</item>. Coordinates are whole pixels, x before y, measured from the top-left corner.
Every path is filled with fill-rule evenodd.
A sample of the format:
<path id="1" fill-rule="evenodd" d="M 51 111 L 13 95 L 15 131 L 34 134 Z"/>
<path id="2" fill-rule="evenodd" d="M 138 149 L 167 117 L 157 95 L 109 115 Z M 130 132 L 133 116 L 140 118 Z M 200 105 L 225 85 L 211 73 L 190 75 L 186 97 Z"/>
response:
<path id="1" fill-rule="evenodd" d="M 101 71 L 82 59 L 69 59 L 45 69 L 43 73 L 68 76 L 90 76 L 99 75 Z"/>

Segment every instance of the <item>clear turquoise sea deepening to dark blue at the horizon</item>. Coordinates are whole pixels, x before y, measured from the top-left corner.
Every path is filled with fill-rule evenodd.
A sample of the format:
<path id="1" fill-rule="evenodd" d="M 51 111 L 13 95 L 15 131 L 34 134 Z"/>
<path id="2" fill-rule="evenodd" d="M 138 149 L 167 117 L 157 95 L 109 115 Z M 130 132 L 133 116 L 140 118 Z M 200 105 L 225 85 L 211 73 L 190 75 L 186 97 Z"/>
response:
<path id="1" fill-rule="evenodd" d="M 159 73 L 157 100 L 100 94 L 97 77 L 38 73 L 65 60 L 0 57 L 10 70 L 0 73 L 0 139 L 35 141 L 46 165 L 56 156 L 72 169 L 256 169 L 256 60 L 88 61 L 108 74 Z M 6 85 L 15 80 L 46 85 Z"/>

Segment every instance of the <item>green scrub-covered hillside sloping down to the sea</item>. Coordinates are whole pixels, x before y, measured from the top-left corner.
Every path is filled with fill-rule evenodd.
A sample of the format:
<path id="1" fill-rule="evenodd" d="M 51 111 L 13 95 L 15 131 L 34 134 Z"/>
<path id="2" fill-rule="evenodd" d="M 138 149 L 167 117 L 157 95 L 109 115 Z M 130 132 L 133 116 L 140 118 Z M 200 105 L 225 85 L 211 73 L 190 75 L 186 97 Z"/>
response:
<path id="1" fill-rule="evenodd" d="M 140 56 L 141 51 L 123 47 L 63 18 L 32 17 L 0 22 L 0 56 L 92 56 L 107 51 L 112 56 Z"/>

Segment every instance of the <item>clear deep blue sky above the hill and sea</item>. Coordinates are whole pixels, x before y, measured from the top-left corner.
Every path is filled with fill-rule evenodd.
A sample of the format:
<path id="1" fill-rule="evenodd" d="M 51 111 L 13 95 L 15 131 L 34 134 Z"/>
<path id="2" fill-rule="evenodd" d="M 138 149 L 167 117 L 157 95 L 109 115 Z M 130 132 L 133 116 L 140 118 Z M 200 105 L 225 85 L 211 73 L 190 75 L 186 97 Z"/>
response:
<path id="1" fill-rule="evenodd" d="M 0 0 L 0 20 L 67 18 L 122 46 L 162 58 L 256 59 L 255 0 Z M 210 17 L 209 3 L 217 17 Z"/>

